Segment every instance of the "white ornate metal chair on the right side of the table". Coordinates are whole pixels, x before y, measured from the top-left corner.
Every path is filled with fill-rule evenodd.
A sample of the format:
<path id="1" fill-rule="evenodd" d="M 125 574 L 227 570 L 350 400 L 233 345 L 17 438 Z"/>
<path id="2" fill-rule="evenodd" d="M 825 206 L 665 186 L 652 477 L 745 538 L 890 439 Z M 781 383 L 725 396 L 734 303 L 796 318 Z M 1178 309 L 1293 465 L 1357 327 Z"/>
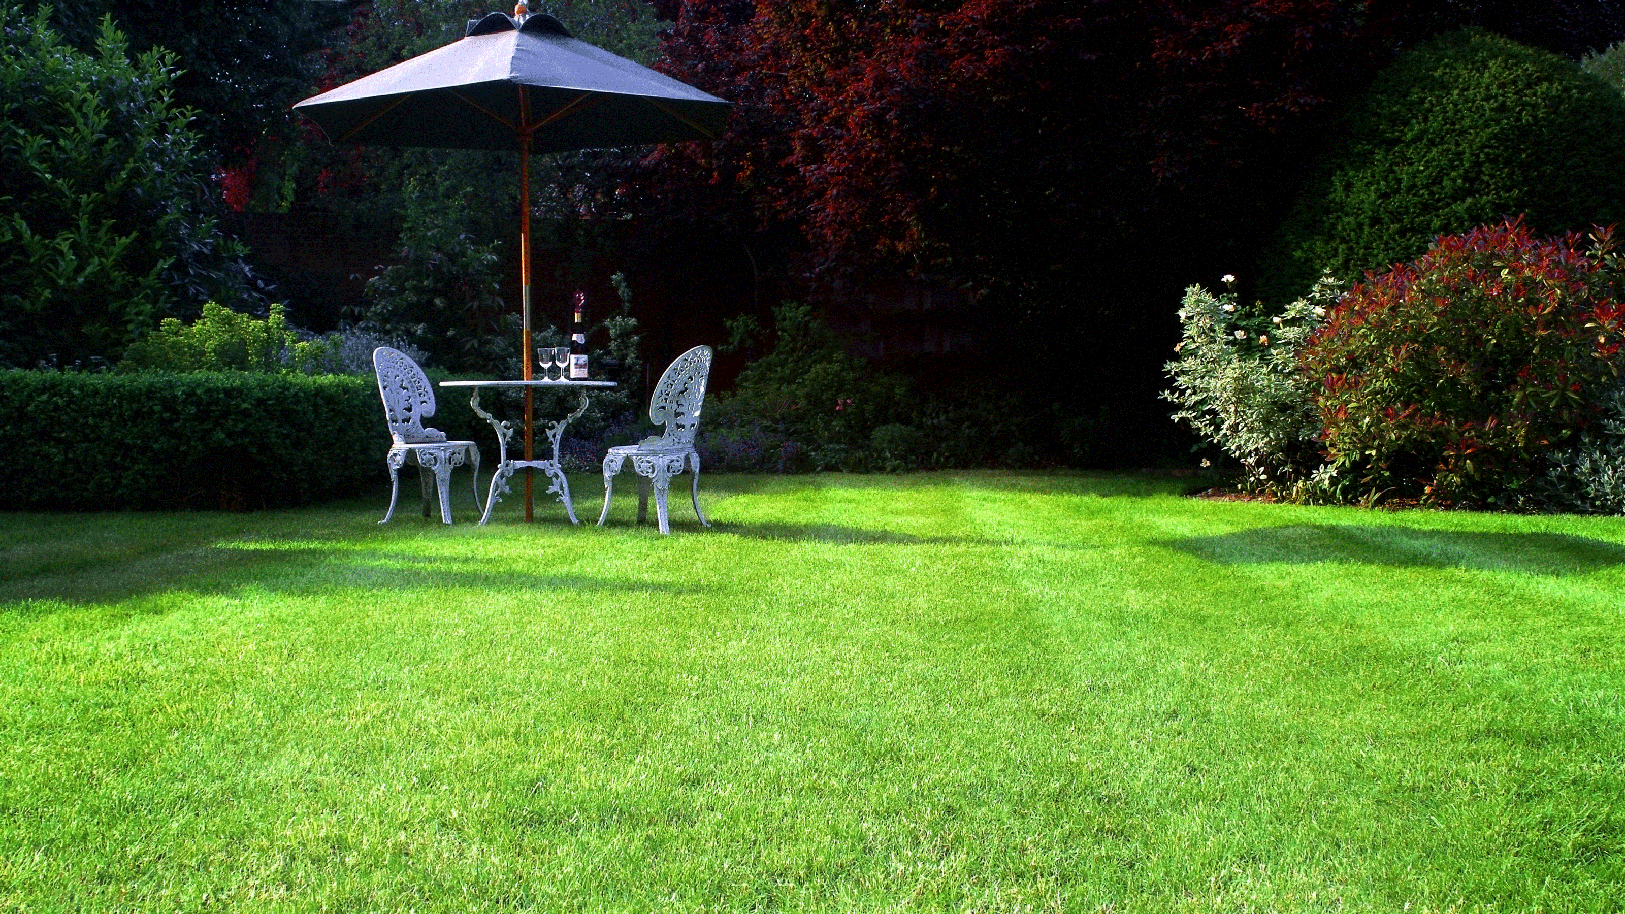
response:
<path id="1" fill-rule="evenodd" d="M 666 514 L 666 493 L 671 490 L 671 477 L 682 473 L 682 465 L 689 464 L 689 493 L 694 499 L 694 514 L 700 524 L 710 527 L 705 512 L 700 511 L 700 455 L 694 450 L 694 433 L 700 428 L 700 407 L 705 403 L 705 381 L 710 379 L 710 346 L 694 346 L 678 356 L 671 368 L 660 376 L 655 395 L 648 400 L 648 421 L 665 423 L 666 431 L 653 437 L 645 437 L 637 444 L 611 447 L 604 455 L 604 512 L 598 516 L 603 527 L 609 519 L 609 499 L 614 496 L 614 475 L 632 460 L 637 473 L 637 522 L 648 520 L 648 481 L 655 481 L 655 516 L 660 519 L 660 532 L 670 533 L 671 522 Z"/>

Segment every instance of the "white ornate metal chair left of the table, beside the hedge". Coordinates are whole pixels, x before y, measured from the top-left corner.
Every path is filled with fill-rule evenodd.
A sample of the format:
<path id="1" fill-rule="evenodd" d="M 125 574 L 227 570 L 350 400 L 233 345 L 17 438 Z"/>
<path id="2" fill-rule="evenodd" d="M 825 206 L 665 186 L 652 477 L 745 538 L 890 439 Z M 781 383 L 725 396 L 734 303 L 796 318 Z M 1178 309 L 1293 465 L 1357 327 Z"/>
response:
<path id="1" fill-rule="evenodd" d="M 400 350 L 379 346 L 372 350 L 372 369 L 379 376 L 379 397 L 384 398 L 384 416 L 390 423 L 390 509 L 379 524 L 388 524 L 395 516 L 395 498 L 401 491 L 400 468 L 410 457 L 418 464 L 418 481 L 422 485 L 422 516 L 429 516 L 429 477 L 440 491 L 440 520 L 452 522 L 452 468 L 465 462 L 474 465 L 474 507 L 479 507 L 479 447 L 473 441 L 447 441 L 445 433 L 422 428 L 424 416 L 434 415 L 434 387 L 418 363 Z"/>

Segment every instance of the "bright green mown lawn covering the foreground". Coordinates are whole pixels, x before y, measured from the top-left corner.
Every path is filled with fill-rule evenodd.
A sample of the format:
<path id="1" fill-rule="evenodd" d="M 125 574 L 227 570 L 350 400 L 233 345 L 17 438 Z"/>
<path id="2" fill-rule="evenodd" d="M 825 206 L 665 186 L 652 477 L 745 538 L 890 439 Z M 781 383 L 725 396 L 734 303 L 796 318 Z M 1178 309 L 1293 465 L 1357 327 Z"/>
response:
<path id="1" fill-rule="evenodd" d="M 702 485 L 0 516 L 0 911 L 1625 904 L 1625 520 Z"/>

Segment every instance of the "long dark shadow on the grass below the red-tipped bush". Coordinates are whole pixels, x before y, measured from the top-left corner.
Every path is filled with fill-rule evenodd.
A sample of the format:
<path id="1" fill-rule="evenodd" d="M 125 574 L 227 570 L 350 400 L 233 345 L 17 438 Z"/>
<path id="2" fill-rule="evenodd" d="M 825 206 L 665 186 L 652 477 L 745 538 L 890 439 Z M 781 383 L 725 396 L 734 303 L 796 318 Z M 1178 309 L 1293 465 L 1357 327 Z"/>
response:
<path id="1" fill-rule="evenodd" d="M 1565 533 L 1415 530 L 1409 527 L 1290 525 L 1164 546 L 1219 564 L 1358 563 L 1391 568 L 1474 568 L 1526 574 L 1586 574 L 1625 564 L 1625 546 Z"/>

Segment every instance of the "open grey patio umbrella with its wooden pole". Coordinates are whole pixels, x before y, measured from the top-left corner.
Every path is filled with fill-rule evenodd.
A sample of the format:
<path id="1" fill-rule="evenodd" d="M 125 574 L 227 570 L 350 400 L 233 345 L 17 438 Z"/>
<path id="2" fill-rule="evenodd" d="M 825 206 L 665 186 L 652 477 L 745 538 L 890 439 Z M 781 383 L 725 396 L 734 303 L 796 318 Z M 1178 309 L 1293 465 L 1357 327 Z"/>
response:
<path id="1" fill-rule="evenodd" d="M 731 106 L 570 36 L 546 13 L 489 13 L 462 41 L 403 60 L 294 111 L 335 143 L 518 150 L 523 374 L 531 379 L 530 155 L 715 140 Z M 531 452 L 525 389 L 525 459 Z M 531 519 L 525 470 L 525 519 Z"/>

